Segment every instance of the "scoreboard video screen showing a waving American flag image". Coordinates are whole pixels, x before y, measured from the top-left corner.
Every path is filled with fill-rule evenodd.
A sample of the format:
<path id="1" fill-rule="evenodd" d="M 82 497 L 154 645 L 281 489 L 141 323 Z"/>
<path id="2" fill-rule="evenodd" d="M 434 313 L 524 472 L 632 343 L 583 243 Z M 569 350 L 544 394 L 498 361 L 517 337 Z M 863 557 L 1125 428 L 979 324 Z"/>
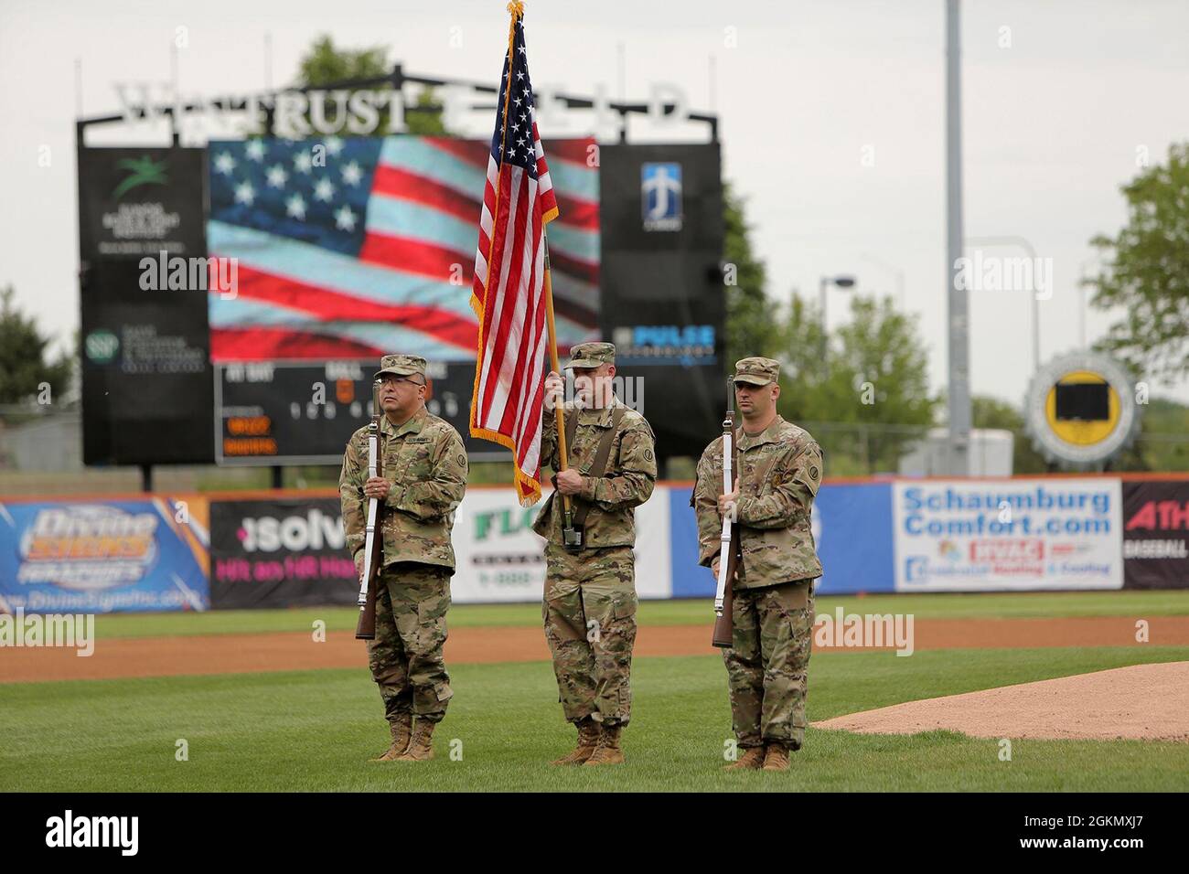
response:
<path id="1" fill-rule="evenodd" d="M 548 144 L 561 218 L 549 227 L 558 342 L 592 339 L 599 178 L 592 139 Z M 235 258 L 209 295 L 215 363 L 474 360 L 474 216 L 490 144 L 396 136 L 212 142 L 207 245 Z"/>

